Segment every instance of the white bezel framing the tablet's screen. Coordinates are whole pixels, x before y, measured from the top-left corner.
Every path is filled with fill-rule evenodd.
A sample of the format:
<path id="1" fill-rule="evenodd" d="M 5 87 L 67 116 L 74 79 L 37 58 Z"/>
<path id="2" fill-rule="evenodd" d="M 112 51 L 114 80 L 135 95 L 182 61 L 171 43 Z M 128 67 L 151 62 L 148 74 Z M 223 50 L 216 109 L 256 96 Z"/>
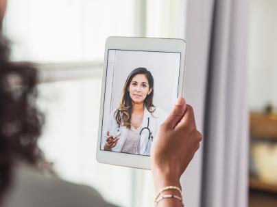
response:
<path id="1" fill-rule="evenodd" d="M 120 165 L 125 167 L 134 167 L 140 169 L 150 169 L 150 156 L 138 154 L 126 154 L 121 152 L 112 152 L 101 150 L 101 133 L 104 114 L 104 99 L 106 88 L 106 73 L 108 66 L 109 50 L 130 50 L 130 51 L 149 51 L 149 52 L 171 52 L 181 53 L 179 69 L 178 97 L 183 96 L 184 89 L 184 65 L 186 57 L 186 42 L 182 39 L 167 38 L 126 38 L 126 37 L 109 37 L 106 40 L 104 70 L 101 87 L 101 104 L 99 115 L 99 126 L 97 136 L 97 154 L 96 159 L 99 163 L 110 165 Z"/>

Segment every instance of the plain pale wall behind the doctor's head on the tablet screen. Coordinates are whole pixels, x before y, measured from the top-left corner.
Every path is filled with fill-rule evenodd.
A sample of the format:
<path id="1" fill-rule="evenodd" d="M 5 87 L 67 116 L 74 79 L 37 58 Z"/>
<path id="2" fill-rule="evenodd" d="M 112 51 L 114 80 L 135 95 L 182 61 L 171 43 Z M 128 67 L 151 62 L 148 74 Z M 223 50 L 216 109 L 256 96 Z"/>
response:
<path id="1" fill-rule="evenodd" d="M 147 68 L 154 78 L 154 105 L 169 113 L 178 95 L 180 53 L 116 51 L 113 80 L 107 83 L 112 84 L 111 110 L 119 107 L 125 81 L 139 67 Z"/>

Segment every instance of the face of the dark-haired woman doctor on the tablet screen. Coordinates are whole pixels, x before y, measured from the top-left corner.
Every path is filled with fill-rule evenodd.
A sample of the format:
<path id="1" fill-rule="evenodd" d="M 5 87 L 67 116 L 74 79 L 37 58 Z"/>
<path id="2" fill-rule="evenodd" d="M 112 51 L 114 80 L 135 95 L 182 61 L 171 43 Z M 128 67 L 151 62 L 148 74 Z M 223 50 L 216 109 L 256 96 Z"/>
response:
<path id="1" fill-rule="evenodd" d="M 144 102 L 147 95 L 151 94 L 152 88 L 149 88 L 149 83 L 145 74 L 137 74 L 133 77 L 128 91 L 133 102 Z"/>

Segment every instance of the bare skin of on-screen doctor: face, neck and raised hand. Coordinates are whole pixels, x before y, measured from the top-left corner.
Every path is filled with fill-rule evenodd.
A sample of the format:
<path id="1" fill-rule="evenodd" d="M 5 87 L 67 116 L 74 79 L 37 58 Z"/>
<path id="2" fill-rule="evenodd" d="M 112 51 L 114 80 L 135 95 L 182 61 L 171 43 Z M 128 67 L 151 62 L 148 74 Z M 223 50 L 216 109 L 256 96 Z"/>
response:
<path id="1" fill-rule="evenodd" d="M 133 77 L 128 87 L 128 92 L 133 104 L 131 124 L 134 128 L 139 128 L 143 122 L 144 100 L 152 92 L 152 88 L 149 88 L 145 74 L 137 74 Z M 104 150 L 110 151 L 117 145 L 119 137 L 110 136 L 109 131 L 107 132 L 107 136 Z"/>

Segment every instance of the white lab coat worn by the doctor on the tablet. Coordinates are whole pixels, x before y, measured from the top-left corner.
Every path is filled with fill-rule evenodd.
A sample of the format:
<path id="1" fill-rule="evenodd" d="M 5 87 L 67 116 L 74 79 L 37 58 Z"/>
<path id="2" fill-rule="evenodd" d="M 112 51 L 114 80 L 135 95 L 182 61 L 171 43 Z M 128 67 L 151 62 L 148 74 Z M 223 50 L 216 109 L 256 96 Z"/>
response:
<path id="1" fill-rule="evenodd" d="M 103 140 L 101 145 L 102 150 L 104 149 L 104 145 L 106 142 L 106 137 L 104 137 L 104 135 L 106 135 L 107 131 L 109 131 L 110 135 L 115 137 L 115 130 L 117 130 L 117 128 L 119 127 L 119 125 L 117 124 L 117 121 L 115 120 L 115 111 L 116 110 L 112 111 L 110 115 L 110 119 L 108 121 L 108 127 L 106 128 L 106 130 L 104 130 L 104 134 L 102 135 L 102 140 Z M 167 113 L 162 109 L 159 109 L 158 107 L 156 107 L 156 110 L 151 114 L 145 107 L 141 129 L 143 127 L 147 127 L 148 118 L 149 118 L 149 129 L 152 132 L 152 136 L 155 138 L 160 124 L 165 122 L 167 118 Z M 117 145 L 114 148 L 112 148 L 113 152 L 121 152 L 123 145 L 126 141 L 128 128 L 126 126 L 120 126 L 120 131 L 121 131 L 121 134 L 119 135 L 119 141 L 117 142 Z M 150 155 L 152 141 L 148 139 L 148 136 L 149 136 L 148 130 L 143 130 L 143 133 L 141 133 L 141 138 L 139 141 L 140 143 L 139 154 Z"/>

